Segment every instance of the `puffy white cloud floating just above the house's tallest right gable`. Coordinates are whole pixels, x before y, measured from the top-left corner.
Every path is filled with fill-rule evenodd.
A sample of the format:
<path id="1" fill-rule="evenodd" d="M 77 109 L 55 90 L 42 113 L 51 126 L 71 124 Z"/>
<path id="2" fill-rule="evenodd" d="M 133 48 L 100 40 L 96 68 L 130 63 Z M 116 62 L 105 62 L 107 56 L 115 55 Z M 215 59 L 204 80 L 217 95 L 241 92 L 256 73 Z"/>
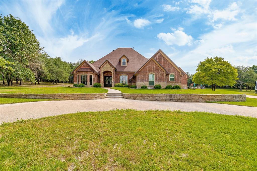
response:
<path id="1" fill-rule="evenodd" d="M 187 35 L 181 30 L 176 30 L 174 33 L 159 33 L 157 37 L 163 40 L 167 45 L 177 44 L 178 46 L 191 45 L 192 36 Z"/>

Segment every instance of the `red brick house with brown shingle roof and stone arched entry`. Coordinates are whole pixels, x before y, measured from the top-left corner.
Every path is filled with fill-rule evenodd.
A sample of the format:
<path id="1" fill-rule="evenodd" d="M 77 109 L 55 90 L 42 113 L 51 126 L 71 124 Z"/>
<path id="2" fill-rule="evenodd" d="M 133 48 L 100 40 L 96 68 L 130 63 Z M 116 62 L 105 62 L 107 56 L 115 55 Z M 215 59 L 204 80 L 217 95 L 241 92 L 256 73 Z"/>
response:
<path id="1" fill-rule="evenodd" d="M 102 87 L 114 87 L 116 83 L 153 87 L 160 84 L 179 85 L 187 88 L 188 75 L 161 50 L 150 59 L 132 48 L 118 48 L 93 64 L 84 60 L 74 71 L 74 83 L 91 87 L 98 82 Z"/>

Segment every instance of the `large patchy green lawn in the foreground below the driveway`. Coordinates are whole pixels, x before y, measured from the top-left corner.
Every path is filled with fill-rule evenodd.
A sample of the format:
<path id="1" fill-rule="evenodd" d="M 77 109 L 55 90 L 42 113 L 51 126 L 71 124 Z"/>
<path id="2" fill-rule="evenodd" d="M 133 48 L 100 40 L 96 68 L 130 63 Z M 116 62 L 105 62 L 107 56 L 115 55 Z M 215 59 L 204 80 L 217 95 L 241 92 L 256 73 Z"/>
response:
<path id="1" fill-rule="evenodd" d="M 0 126 L 3 170 L 256 170 L 257 119 L 81 112 Z"/>

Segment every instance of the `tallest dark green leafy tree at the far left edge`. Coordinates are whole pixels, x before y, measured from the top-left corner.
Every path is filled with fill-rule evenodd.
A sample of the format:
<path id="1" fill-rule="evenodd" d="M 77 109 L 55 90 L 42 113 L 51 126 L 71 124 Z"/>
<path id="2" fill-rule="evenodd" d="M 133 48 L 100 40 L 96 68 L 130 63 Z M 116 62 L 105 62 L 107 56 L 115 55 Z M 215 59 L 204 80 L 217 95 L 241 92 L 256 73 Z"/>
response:
<path id="1" fill-rule="evenodd" d="M 0 56 L 6 61 L 12 62 L 12 70 L 4 71 L 8 86 L 15 78 L 22 80 L 34 80 L 33 68 L 30 63 L 41 48 L 39 41 L 29 29 L 29 27 L 11 14 L 0 16 Z"/>

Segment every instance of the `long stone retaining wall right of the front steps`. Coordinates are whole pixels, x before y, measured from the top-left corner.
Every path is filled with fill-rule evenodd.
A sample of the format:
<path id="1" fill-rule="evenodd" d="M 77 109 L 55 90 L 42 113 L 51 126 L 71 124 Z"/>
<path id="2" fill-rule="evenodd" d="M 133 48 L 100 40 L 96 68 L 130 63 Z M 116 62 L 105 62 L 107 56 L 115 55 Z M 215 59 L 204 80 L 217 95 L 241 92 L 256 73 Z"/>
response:
<path id="1" fill-rule="evenodd" d="M 246 101 L 245 94 L 128 94 L 122 93 L 126 99 L 205 102 L 205 101 Z"/>

